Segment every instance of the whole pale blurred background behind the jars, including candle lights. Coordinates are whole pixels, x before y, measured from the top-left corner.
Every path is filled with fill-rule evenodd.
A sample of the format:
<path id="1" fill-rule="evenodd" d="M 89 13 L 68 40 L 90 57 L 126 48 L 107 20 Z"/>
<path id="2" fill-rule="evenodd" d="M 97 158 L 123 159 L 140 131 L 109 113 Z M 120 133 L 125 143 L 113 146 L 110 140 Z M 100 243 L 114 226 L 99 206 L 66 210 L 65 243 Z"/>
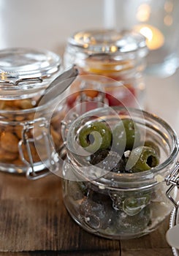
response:
<path id="1" fill-rule="evenodd" d="M 147 110 L 179 133 L 178 0 L 0 0 L 0 49 L 44 48 L 63 57 L 83 29 L 136 29 L 147 38 Z"/>

